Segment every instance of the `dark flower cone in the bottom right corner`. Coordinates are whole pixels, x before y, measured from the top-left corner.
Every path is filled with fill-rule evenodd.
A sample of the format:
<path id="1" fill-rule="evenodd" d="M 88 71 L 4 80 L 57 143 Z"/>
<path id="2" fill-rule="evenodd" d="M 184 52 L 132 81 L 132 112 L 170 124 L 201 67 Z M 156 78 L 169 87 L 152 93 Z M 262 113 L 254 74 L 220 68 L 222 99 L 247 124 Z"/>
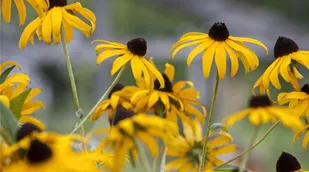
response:
<path id="1" fill-rule="evenodd" d="M 276 164 L 277 172 L 308 172 L 301 169 L 298 160 L 291 154 L 282 152 Z"/>

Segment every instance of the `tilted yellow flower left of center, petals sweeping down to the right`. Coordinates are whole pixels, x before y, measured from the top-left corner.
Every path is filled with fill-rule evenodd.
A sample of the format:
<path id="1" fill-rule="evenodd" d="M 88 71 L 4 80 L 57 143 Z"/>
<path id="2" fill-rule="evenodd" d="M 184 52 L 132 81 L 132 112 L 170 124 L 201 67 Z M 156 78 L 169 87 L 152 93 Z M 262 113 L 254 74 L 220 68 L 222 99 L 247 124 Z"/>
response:
<path id="1" fill-rule="evenodd" d="M 102 42 L 102 44 L 97 45 L 95 48 L 96 54 L 99 54 L 96 61 L 97 64 L 101 64 L 110 57 L 118 56 L 113 62 L 111 75 L 114 75 L 123 66 L 131 62 L 132 73 L 136 80 L 141 80 L 142 76 L 144 76 L 147 81 L 146 84 L 150 85 L 150 76 L 153 75 L 158 79 L 160 88 L 164 87 L 164 79 L 161 73 L 156 66 L 152 65 L 144 57 L 147 51 L 145 39 L 135 38 L 129 41 L 127 45 L 106 40 L 96 40 L 94 42 Z"/>

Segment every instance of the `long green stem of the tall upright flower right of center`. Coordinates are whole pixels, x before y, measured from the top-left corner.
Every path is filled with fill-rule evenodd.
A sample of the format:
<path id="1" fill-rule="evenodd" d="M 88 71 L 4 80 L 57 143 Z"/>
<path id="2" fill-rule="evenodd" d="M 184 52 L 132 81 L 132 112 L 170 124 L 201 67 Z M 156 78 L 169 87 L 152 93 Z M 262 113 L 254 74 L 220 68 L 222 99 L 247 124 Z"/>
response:
<path id="1" fill-rule="evenodd" d="M 211 123 L 212 123 L 213 113 L 214 113 L 214 110 L 215 110 L 215 103 L 216 103 L 216 99 L 217 99 L 218 88 L 219 88 L 219 74 L 217 73 L 215 88 L 213 90 L 210 112 L 209 112 L 208 121 L 207 121 L 208 124 L 207 124 L 207 130 L 206 130 L 204 145 L 203 145 L 202 163 L 200 164 L 199 172 L 203 171 L 204 165 L 205 165 L 205 160 L 206 160 L 206 156 L 207 156 L 207 152 L 206 152 L 207 151 L 207 142 L 208 142 L 208 137 L 209 137 L 209 134 L 210 134 L 210 127 L 211 127 Z"/>

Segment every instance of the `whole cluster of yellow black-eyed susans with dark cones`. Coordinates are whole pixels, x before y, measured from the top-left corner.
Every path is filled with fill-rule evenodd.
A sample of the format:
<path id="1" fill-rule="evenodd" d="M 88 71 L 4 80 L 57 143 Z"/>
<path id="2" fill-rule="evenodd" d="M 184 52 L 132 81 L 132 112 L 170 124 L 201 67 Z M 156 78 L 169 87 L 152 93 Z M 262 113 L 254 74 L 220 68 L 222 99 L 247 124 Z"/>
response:
<path id="1" fill-rule="evenodd" d="M 14 2 L 20 16 L 19 24 L 23 25 L 26 20 L 25 3 L 23 0 Z M 61 41 L 65 47 L 65 43 L 73 39 L 74 28 L 80 30 L 86 37 L 96 29 L 95 15 L 89 9 L 82 7 L 79 2 L 73 4 L 67 4 L 66 0 L 27 0 L 27 2 L 38 17 L 25 27 L 19 41 L 20 48 L 25 48 L 29 41 L 33 44 L 34 35 L 46 44 L 58 44 Z M 11 19 L 11 3 L 12 0 L 1 0 L 1 12 L 5 22 L 10 22 Z M 1 107 L 6 108 L 12 118 L 18 119 L 18 129 L 14 131 L 13 138 L 9 138 L 12 137 L 8 134 L 11 131 L 7 131 L 11 124 L 8 125 L 1 119 L 4 121 L 1 122 L 0 133 L 1 170 L 119 172 L 126 167 L 127 161 L 133 165 L 138 162 L 137 159 L 143 152 L 139 144 L 142 142 L 153 159 L 162 156 L 160 171 L 220 171 L 235 158 L 223 161 L 219 156 L 236 152 L 238 149 L 226 128 L 245 117 L 248 117 L 254 126 L 282 122 L 284 126 L 296 130 L 294 141 L 302 133 L 306 133 L 303 148 L 306 148 L 309 142 L 309 85 L 299 86 L 299 80 L 304 77 L 297 69 L 298 65 L 309 69 L 309 51 L 300 51 L 298 45 L 289 38 L 278 38 L 274 46 L 275 61 L 254 84 L 248 109 L 228 116 L 220 125 L 212 125 L 212 117 L 219 81 L 224 79 L 227 73 L 227 57 L 231 62 L 230 76 L 234 77 L 239 70 L 239 59 L 246 73 L 259 66 L 259 58 L 245 43 L 258 45 L 268 54 L 267 47 L 252 38 L 230 36 L 224 23 L 215 23 L 208 34 L 199 32 L 184 34 L 172 46 L 169 56 L 174 58 L 181 49 L 195 45 L 196 47 L 188 55 L 187 65 L 190 67 L 194 58 L 202 53 L 205 79 L 209 78 L 213 63 L 216 65 L 216 85 L 205 132 L 203 124 L 206 119 L 206 107 L 199 102 L 199 91 L 194 87 L 194 83 L 175 81 L 176 69 L 169 63 L 165 64 L 165 70 L 161 73 L 153 58 L 145 57 L 147 52 L 145 39 L 135 38 L 127 44 L 107 40 L 96 40 L 93 43 L 99 43 L 95 47 L 98 55 L 97 64 L 108 58 L 117 57 L 110 71 L 112 76 L 115 74 L 117 76 L 111 87 L 88 115 L 77 123 L 70 135 L 45 131 L 44 124 L 31 116 L 44 106 L 41 101 L 32 100 L 41 90 L 29 88 L 30 78 L 26 74 L 10 74 L 15 66 L 20 68 L 18 63 L 12 61 L 1 63 L 0 105 L 4 105 Z M 118 83 L 118 80 L 129 63 L 136 84 L 124 86 Z M 70 69 L 69 72 L 77 110 L 80 110 L 76 89 L 74 90 L 74 75 L 72 76 Z M 277 101 L 273 101 L 270 98 L 270 88 L 273 85 L 274 88 L 281 89 L 279 76 L 291 83 L 295 91 L 280 93 Z M 259 88 L 259 95 L 254 93 L 256 88 Z M 107 99 L 104 99 L 106 96 Z M 289 106 L 280 106 L 287 103 Z M 89 137 L 74 134 L 85 121 L 96 121 L 105 111 L 108 111 L 110 127 L 91 132 Z M 89 138 L 93 135 L 103 135 L 104 138 L 97 147 L 89 148 L 91 146 Z M 166 156 L 173 159 L 166 162 Z M 292 155 L 283 153 L 278 160 L 277 171 L 301 171 L 298 161 L 295 160 Z M 145 164 L 147 162 L 148 159 L 145 157 L 140 161 Z M 230 169 L 235 170 L 238 170 L 238 167 Z M 243 170 L 242 167 L 240 170 Z"/>

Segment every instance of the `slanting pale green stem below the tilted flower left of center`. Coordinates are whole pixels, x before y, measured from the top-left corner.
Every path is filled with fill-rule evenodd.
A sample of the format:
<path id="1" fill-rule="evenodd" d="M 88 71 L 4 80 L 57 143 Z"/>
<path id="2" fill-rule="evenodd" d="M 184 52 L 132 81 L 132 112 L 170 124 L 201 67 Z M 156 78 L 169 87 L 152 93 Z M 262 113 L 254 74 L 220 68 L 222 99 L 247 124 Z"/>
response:
<path id="1" fill-rule="evenodd" d="M 105 99 L 105 97 L 108 95 L 108 93 L 113 89 L 113 87 L 117 84 L 119 81 L 123 71 L 125 69 L 125 66 L 123 66 L 120 71 L 118 72 L 117 76 L 115 77 L 112 84 L 108 87 L 108 89 L 105 91 L 105 93 L 102 95 L 100 100 L 93 106 L 93 108 L 90 110 L 90 112 L 78 123 L 78 125 L 74 128 L 74 130 L 71 132 L 71 134 L 75 133 L 80 127 L 83 126 L 83 124 L 88 120 L 88 118 L 94 113 L 94 111 L 97 109 L 97 107 L 100 105 L 100 103 Z"/>

